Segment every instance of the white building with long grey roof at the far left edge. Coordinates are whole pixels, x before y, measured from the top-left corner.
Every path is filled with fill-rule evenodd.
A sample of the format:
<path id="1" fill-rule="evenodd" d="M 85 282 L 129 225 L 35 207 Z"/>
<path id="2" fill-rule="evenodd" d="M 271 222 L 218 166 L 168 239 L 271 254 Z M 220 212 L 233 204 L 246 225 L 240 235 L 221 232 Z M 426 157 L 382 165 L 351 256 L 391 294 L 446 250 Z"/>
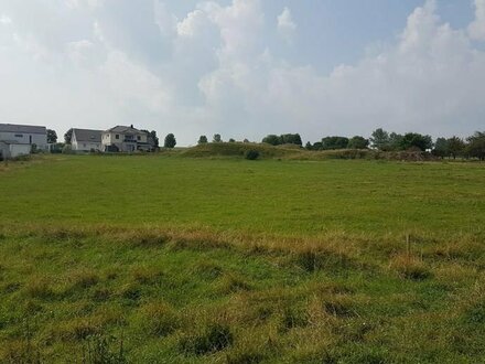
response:
<path id="1" fill-rule="evenodd" d="M 0 153 L 2 158 L 29 154 L 33 144 L 41 150 L 48 148 L 45 127 L 0 124 Z"/>

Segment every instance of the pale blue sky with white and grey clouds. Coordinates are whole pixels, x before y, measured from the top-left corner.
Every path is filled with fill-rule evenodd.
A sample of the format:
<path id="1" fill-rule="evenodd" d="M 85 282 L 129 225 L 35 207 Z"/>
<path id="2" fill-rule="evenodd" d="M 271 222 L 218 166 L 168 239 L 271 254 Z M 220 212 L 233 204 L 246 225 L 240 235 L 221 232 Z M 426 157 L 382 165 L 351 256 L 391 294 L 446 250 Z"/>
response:
<path id="1" fill-rule="evenodd" d="M 0 122 L 466 136 L 485 0 L 0 0 Z"/>

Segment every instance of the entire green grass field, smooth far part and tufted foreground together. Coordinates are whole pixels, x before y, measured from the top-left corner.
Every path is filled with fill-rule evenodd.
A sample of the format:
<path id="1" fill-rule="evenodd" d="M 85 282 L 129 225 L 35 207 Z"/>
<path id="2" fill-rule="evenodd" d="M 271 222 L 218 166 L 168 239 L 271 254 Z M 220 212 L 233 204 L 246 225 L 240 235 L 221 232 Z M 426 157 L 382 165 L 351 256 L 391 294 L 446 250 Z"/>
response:
<path id="1" fill-rule="evenodd" d="M 0 362 L 484 362 L 484 185 L 482 163 L 2 165 Z"/>

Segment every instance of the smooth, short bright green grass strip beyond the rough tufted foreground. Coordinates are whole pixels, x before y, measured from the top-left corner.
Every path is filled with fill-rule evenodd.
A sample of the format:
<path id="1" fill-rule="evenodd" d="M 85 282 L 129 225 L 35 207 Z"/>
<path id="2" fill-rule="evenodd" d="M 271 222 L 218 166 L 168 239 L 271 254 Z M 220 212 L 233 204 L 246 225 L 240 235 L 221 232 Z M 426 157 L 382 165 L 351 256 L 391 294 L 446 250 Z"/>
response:
<path id="1" fill-rule="evenodd" d="M 61 157 L 0 174 L 2 223 L 471 233 L 485 223 L 485 167 Z"/>

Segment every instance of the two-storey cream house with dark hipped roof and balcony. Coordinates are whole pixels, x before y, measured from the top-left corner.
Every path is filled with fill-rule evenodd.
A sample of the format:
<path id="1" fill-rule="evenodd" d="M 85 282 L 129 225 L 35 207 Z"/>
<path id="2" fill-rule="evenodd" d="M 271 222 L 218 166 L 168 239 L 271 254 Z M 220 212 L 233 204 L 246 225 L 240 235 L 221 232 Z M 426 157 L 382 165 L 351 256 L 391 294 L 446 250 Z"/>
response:
<path id="1" fill-rule="evenodd" d="M 138 130 L 133 126 L 116 126 L 101 133 L 103 150 L 108 152 L 149 151 L 151 144 L 148 132 Z"/>

